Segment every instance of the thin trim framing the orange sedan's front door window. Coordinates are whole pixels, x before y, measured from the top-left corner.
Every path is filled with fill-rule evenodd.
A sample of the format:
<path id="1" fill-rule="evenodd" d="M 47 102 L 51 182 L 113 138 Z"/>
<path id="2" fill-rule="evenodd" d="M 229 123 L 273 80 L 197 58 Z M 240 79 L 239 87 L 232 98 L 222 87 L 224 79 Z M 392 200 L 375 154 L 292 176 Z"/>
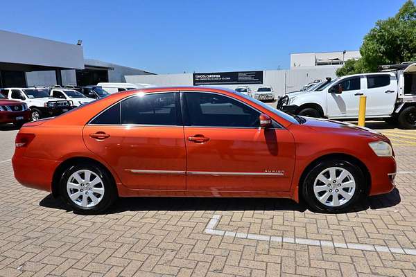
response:
<path id="1" fill-rule="evenodd" d="M 202 90 L 198 90 L 198 91 L 180 91 L 180 104 L 181 104 L 181 111 L 182 111 L 182 118 L 183 118 L 183 123 L 184 123 L 184 127 L 203 127 L 203 128 L 232 128 L 232 129 L 259 129 L 259 127 L 235 127 L 235 126 L 197 126 L 197 125 L 191 125 L 190 120 L 189 120 L 189 111 L 188 111 L 188 107 L 187 107 L 187 100 L 186 100 L 186 94 L 187 93 L 209 93 L 209 94 L 215 94 L 218 96 L 223 96 L 226 98 L 230 98 L 232 100 L 235 100 L 237 102 L 240 102 L 241 104 L 249 107 L 250 109 L 254 109 L 254 111 L 259 112 L 259 114 L 263 114 L 262 111 L 260 111 L 259 109 L 256 109 L 255 107 L 252 107 L 250 105 L 248 105 L 247 103 L 236 99 L 236 98 L 232 98 L 229 97 L 225 94 L 222 93 L 216 93 L 214 91 L 202 91 Z M 272 120 L 272 127 L 269 129 L 284 129 L 284 127 L 282 127 L 279 123 L 277 123 L 275 120 Z"/>

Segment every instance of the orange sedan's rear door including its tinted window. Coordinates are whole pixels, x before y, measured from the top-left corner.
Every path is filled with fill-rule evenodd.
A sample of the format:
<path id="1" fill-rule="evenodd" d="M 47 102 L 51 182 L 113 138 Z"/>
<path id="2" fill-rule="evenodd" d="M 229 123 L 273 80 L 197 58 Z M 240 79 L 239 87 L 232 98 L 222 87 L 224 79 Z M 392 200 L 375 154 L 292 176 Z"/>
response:
<path id="1" fill-rule="evenodd" d="M 185 190 L 186 152 L 175 92 L 146 93 L 113 105 L 83 136 L 123 185 L 141 190 Z"/>

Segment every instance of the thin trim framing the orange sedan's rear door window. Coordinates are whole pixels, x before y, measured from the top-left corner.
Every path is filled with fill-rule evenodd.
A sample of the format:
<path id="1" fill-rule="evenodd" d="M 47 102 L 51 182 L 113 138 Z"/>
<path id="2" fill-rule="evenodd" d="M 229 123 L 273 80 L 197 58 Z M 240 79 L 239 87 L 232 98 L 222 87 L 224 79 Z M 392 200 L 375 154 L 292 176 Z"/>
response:
<path id="1" fill-rule="evenodd" d="M 175 105 L 180 105 L 180 97 L 179 97 L 179 91 L 155 91 L 155 92 L 150 92 L 150 93 L 146 93 L 146 95 L 150 95 L 150 94 L 159 94 L 159 93 L 175 93 Z M 128 100 L 129 98 L 135 97 L 137 96 L 137 93 L 132 94 L 130 96 L 127 96 L 125 98 L 122 98 L 120 100 L 118 100 L 117 102 L 114 102 L 112 105 L 106 107 L 105 109 L 103 109 L 102 111 L 100 111 L 98 114 L 96 114 L 94 117 L 92 117 L 90 120 L 88 120 L 87 124 L 85 125 L 105 125 L 105 126 L 162 126 L 162 127 L 183 127 L 183 121 L 182 121 L 182 114 L 181 114 L 181 106 L 177 106 L 176 109 L 176 118 L 177 118 L 177 125 L 155 125 L 155 124 L 121 124 L 122 118 L 121 118 L 121 109 L 122 109 L 122 105 L 121 102 L 123 102 L 124 100 Z M 101 114 L 103 114 L 105 111 L 107 111 L 107 109 L 110 109 L 112 107 L 114 107 L 115 105 L 120 105 L 120 123 L 119 124 L 94 124 L 92 123 L 92 121 L 94 121 L 96 118 L 98 118 L 98 116 L 101 116 Z"/>

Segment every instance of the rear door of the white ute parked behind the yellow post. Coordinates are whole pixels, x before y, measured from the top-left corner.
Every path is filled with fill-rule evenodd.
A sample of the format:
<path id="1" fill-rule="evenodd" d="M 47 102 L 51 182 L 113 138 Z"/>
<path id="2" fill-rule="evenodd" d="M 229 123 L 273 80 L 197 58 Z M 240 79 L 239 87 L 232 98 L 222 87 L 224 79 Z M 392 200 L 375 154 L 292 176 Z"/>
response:
<path id="1" fill-rule="evenodd" d="M 389 73 L 366 75 L 365 77 L 366 116 L 392 114 L 397 99 L 397 80 L 395 75 L 390 75 Z"/>

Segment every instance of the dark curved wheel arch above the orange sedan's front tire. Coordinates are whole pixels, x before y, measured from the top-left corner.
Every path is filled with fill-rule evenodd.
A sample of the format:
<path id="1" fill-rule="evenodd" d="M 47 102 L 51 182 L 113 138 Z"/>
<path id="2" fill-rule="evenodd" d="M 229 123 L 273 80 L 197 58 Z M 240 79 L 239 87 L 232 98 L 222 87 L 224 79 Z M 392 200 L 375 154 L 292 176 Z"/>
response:
<path id="1" fill-rule="evenodd" d="M 327 161 L 327 160 L 334 160 L 334 159 L 340 159 L 340 160 L 345 160 L 348 161 L 356 166 L 358 166 L 358 168 L 360 168 L 361 172 L 363 172 L 363 175 L 365 177 L 365 195 L 368 195 L 370 193 L 370 189 L 371 189 L 371 175 L 370 175 L 370 171 L 368 170 L 367 166 L 365 166 L 365 163 L 363 163 L 363 161 L 361 161 L 360 159 L 350 155 L 350 154 L 345 154 L 345 153 L 332 153 L 332 154 L 326 154 L 324 156 L 318 157 L 316 159 L 314 159 L 313 161 L 311 161 L 311 163 L 309 163 L 308 166 L 306 166 L 306 168 L 304 168 L 304 170 L 302 171 L 302 175 L 300 176 L 299 179 L 299 183 L 298 183 L 298 190 L 297 190 L 297 195 L 296 197 L 299 197 L 298 199 L 302 199 L 302 189 L 303 189 L 303 185 L 304 185 L 304 180 L 306 179 L 306 176 L 308 175 L 308 173 L 315 167 L 317 166 L 319 163 L 321 163 L 322 161 Z"/>

